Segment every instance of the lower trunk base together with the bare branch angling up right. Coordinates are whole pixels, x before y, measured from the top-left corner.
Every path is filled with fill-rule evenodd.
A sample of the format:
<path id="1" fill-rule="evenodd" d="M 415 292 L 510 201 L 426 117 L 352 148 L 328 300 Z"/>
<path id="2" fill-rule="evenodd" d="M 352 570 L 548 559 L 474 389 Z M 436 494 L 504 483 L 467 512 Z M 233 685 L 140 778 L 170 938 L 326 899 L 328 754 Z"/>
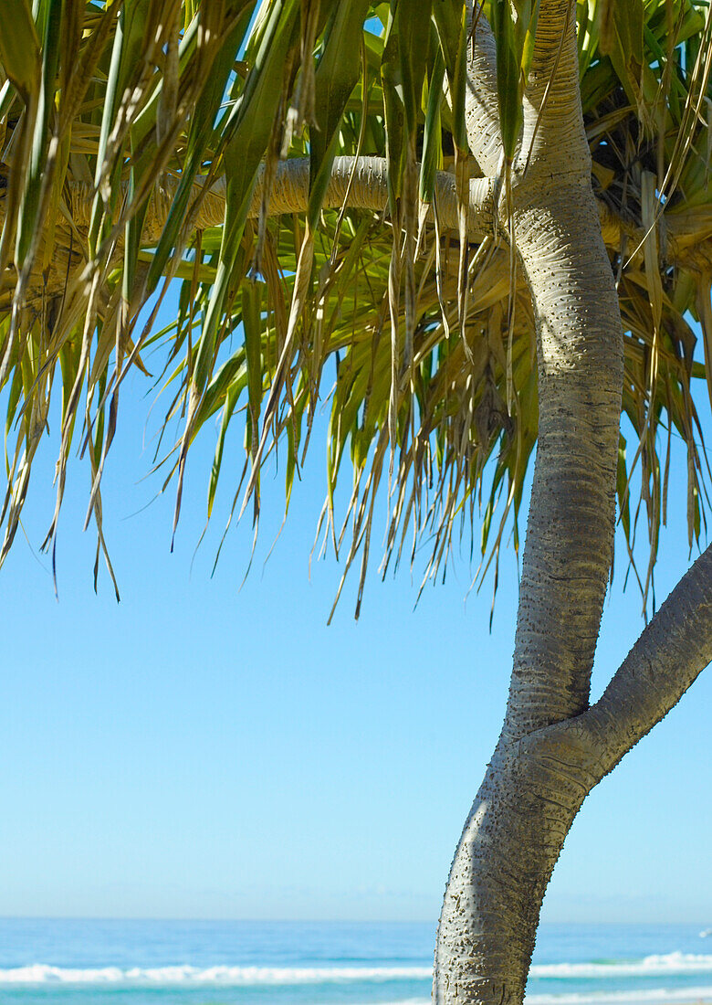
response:
<path id="1" fill-rule="evenodd" d="M 578 808 L 712 660 L 712 546 L 579 716 L 500 739 L 455 853 L 438 929 L 437 1005 L 518 1005 L 541 901 Z"/>

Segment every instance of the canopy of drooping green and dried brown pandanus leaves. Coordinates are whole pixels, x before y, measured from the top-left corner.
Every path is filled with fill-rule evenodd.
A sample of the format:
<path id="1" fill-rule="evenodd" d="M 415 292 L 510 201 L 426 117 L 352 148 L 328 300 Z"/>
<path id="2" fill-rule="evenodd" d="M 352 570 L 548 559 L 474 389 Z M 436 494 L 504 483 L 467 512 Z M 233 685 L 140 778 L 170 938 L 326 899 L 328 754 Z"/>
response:
<path id="1" fill-rule="evenodd" d="M 359 604 L 387 489 L 384 570 L 425 541 L 425 580 L 444 574 L 463 528 L 479 539 L 484 570 L 509 520 L 518 548 L 537 428 L 534 320 L 523 283 L 510 288 L 506 236 L 468 218 L 470 185 L 486 185 L 477 188 L 464 129 L 463 3 L 12 6 L 12 30 L 0 33 L 0 561 L 54 393 L 61 444 L 46 544 L 74 444 L 108 562 L 100 477 L 123 380 L 144 369 L 149 345 L 165 354 L 166 421 L 183 417 L 164 460 L 176 519 L 191 444 L 218 415 L 208 515 L 234 422 L 245 430 L 248 496 L 284 437 L 288 506 L 317 402 L 330 396 L 322 522 L 345 571 L 361 556 Z M 489 0 L 483 10 L 497 33 L 511 161 L 538 5 Z M 584 0 L 576 15 L 636 437 L 622 438 L 621 520 L 633 560 L 645 511 L 647 598 L 673 431 L 688 450 L 691 544 L 705 521 L 693 381 L 707 376 L 712 395 L 712 21 L 702 0 Z M 370 164 L 371 182 L 360 174 Z M 175 324 L 153 334 L 174 280 Z M 690 317 L 703 329 L 704 367 Z"/>

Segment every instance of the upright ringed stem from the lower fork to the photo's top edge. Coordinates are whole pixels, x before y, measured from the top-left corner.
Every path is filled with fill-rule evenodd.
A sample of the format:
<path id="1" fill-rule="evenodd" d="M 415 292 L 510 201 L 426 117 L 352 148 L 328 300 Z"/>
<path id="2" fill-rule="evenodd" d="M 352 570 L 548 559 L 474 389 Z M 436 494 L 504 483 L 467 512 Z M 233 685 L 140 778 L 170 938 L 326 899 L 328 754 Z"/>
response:
<path id="1" fill-rule="evenodd" d="M 623 333 L 590 187 L 573 28 L 568 0 L 542 3 L 512 180 L 536 318 L 539 428 L 509 740 L 586 707 L 613 554 Z M 492 162 L 494 49 L 482 18 L 480 35 L 468 126 L 475 157 Z"/>

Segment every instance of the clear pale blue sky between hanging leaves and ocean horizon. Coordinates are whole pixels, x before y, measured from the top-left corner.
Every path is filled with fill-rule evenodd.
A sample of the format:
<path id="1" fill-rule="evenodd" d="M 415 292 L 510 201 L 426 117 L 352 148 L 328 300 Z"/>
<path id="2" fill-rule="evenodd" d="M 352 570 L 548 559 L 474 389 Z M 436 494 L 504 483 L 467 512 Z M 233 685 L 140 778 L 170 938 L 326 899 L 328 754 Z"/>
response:
<path id="1" fill-rule="evenodd" d="M 141 480 L 152 458 L 147 387 L 127 385 L 103 482 L 122 603 L 103 571 L 98 596 L 92 590 L 78 463 L 54 599 L 50 561 L 38 553 L 53 509 L 50 449 L 32 477 L 28 540 L 18 534 L 0 571 L 0 915 L 434 920 L 503 715 L 513 559 L 502 563 L 491 634 L 491 583 L 465 604 L 464 559 L 415 611 L 407 569 L 386 583 L 373 574 L 359 623 L 353 577 L 327 627 L 340 568 L 329 558 L 310 579 L 307 568 L 322 439 L 266 565 L 281 476 L 264 479 L 244 587 L 247 520 L 230 531 L 211 579 L 242 464 L 239 437 L 191 569 L 215 437 L 208 430 L 189 460 L 170 554 L 173 487 L 137 513 L 161 483 Z M 688 566 L 677 446 L 660 599 Z M 597 693 L 643 627 L 623 571 L 607 603 Z M 545 919 L 712 923 L 710 709 L 708 671 L 586 800 Z"/>

